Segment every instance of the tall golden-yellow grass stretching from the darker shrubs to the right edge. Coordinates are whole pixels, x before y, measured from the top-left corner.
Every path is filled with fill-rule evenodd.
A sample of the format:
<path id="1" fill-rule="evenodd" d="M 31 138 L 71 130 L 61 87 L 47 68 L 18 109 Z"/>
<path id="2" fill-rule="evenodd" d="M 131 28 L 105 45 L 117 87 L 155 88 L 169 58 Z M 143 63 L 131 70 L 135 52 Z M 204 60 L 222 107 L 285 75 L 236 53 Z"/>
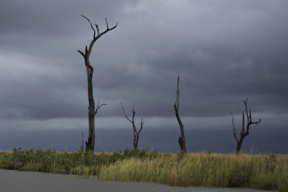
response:
<path id="1" fill-rule="evenodd" d="M 155 182 L 172 186 L 249 187 L 288 190 L 287 155 L 190 153 L 154 159 L 129 158 L 103 166 L 100 180 Z"/>

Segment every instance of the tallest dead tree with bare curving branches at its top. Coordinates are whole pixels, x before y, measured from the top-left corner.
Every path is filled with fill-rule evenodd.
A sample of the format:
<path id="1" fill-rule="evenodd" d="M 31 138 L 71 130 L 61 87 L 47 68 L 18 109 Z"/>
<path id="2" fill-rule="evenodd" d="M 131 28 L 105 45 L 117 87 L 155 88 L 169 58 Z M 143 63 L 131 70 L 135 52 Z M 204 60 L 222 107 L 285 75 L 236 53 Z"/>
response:
<path id="1" fill-rule="evenodd" d="M 102 33 L 99 33 L 99 28 L 98 28 L 98 25 L 95 23 L 95 26 L 96 26 L 96 29 L 97 29 L 97 35 L 96 35 L 96 32 L 95 32 L 95 29 L 93 28 L 90 20 L 81 15 L 82 17 L 84 17 L 85 19 L 87 19 L 91 25 L 91 28 L 93 29 L 94 31 L 94 35 L 93 35 L 93 39 L 91 40 L 91 43 L 89 45 L 89 48 L 87 49 L 87 46 L 85 48 L 85 54 L 82 52 L 82 51 L 79 51 L 78 52 L 84 57 L 84 61 L 85 61 L 85 66 L 86 66 L 86 71 L 87 71 L 87 81 L 88 81 L 88 101 L 89 101 L 89 107 L 88 107 L 88 119 L 89 119 L 89 135 L 88 135 L 88 142 L 86 141 L 86 149 L 85 151 L 88 152 L 88 151 L 94 151 L 94 147 L 95 147 L 95 114 L 97 113 L 97 110 L 102 106 L 102 105 L 106 105 L 106 104 L 102 104 L 99 106 L 99 101 L 98 101 L 98 105 L 96 107 L 96 110 L 95 110 L 95 101 L 94 101 L 94 98 L 93 98 L 93 86 L 92 86 L 92 77 L 93 77 L 93 71 L 94 71 L 94 68 L 90 65 L 90 61 L 89 61 L 89 57 L 90 57 L 90 54 L 91 54 L 91 50 L 92 50 L 92 47 L 95 43 L 95 41 L 97 39 L 99 39 L 102 35 L 104 35 L 105 33 L 107 33 L 108 31 L 112 30 L 112 29 L 115 29 L 117 27 L 117 24 L 118 22 L 116 23 L 116 26 L 112 27 L 112 28 L 109 28 L 108 27 L 108 22 L 107 22 L 107 18 L 105 18 L 106 20 L 106 26 L 107 26 L 107 29 L 102 32 Z M 95 36 L 96 35 L 96 36 Z"/>

